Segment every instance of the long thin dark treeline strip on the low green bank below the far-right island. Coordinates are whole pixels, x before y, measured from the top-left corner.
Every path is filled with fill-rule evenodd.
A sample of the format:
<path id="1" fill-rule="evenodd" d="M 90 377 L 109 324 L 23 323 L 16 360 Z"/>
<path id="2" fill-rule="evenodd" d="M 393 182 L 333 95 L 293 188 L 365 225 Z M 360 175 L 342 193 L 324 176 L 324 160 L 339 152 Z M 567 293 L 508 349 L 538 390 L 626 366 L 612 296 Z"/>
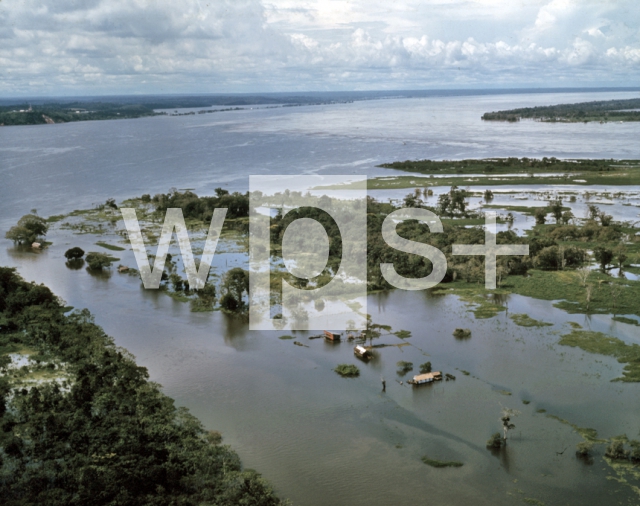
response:
<path id="1" fill-rule="evenodd" d="M 630 160 L 625 162 L 630 163 Z M 561 160 L 556 157 L 537 158 L 488 158 L 484 160 L 405 160 L 404 162 L 383 163 L 380 167 L 422 174 L 474 174 L 474 173 L 510 173 L 510 172 L 583 172 L 610 171 L 611 166 L 619 163 L 613 159 L 601 160 Z"/>

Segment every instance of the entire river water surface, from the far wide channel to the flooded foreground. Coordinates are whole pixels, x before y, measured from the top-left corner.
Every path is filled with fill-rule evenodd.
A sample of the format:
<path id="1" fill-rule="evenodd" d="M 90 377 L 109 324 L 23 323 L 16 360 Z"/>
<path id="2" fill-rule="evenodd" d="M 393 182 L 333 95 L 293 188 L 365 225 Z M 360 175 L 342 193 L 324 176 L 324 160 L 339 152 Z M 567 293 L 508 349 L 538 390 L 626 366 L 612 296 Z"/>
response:
<path id="1" fill-rule="evenodd" d="M 0 225 L 6 229 L 34 207 L 49 215 L 171 187 L 245 190 L 252 173 L 397 174 L 374 166 L 410 158 L 640 158 L 631 142 L 640 133 L 637 124 L 520 122 L 514 129 L 475 119 L 523 103 L 592 97 L 602 95 L 387 100 L 218 113 L 215 120 L 196 115 L 6 128 Z M 496 201 L 503 198 L 519 202 L 509 196 Z M 609 479 L 614 474 L 602 449 L 593 465 L 576 459 L 581 437 L 546 416 L 592 427 L 602 437 L 637 438 L 640 389 L 610 381 L 622 365 L 557 344 L 571 331 L 569 322 L 640 344 L 636 326 L 607 315 L 568 315 L 551 302 L 520 296 L 500 299 L 505 310 L 480 320 L 454 295 L 398 290 L 369 295 L 368 312 L 374 322 L 412 337 L 374 340 L 387 346 L 365 363 L 350 342 L 329 344 L 297 332 L 305 346 L 296 346 L 277 332 L 249 331 L 220 312 L 192 313 L 188 304 L 144 290 L 137 277 L 115 269 L 97 276 L 65 266 L 66 249 L 96 250 L 98 240 L 114 242 L 109 236 L 53 230 L 48 239 L 53 245 L 38 253 L 2 240 L 0 265 L 17 266 L 69 305 L 89 308 L 178 405 L 221 430 L 245 465 L 294 504 L 638 502 L 629 487 Z M 231 244 L 221 241 L 220 248 L 228 251 L 214 260 L 220 270 L 246 261 Z M 113 254 L 135 267 L 129 249 Z M 551 325 L 517 326 L 510 316 L 520 313 Z M 471 337 L 454 338 L 456 327 L 469 328 Z M 401 360 L 412 362 L 414 371 L 398 374 Z M 427 361 L 455 381 L 407 385 Z M 333 371 L 339 363 L 357 364 L 360 376 L 341 378 Z M 500 430 L 503 406 L 521 414 L 506 451 L 493 454 L 485 442 Z M 432 468 L 423 456 L 464 465 Z"/>

